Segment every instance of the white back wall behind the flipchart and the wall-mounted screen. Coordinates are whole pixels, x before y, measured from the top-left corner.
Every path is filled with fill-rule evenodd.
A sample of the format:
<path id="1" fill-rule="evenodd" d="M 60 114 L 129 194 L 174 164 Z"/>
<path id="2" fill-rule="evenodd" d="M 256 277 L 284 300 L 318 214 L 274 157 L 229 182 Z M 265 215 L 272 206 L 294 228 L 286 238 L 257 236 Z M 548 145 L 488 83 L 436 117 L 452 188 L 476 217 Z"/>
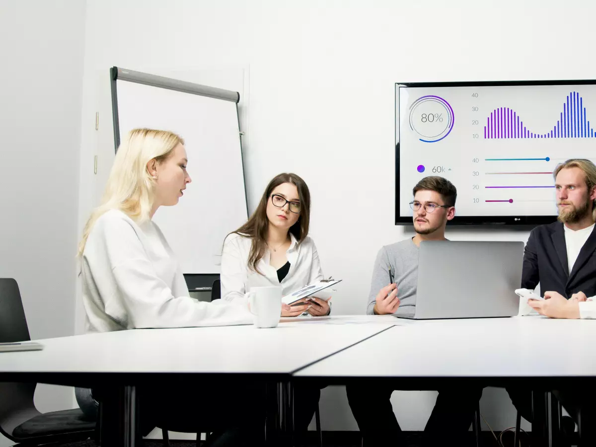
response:
<path id="1" fill-rule="evenodd" d="M 361 313 L 375 253 L 406 237 L 392 224 L 394 83 L 593 77 L 595 13 L 592 2 L 573 0 L 89 0 L 83 110 L 94 107 L 97 71 L 113 65 L 249 67 L 249 208 L 275 174 L 303 176 L 325 274 L 355 278 L 334 296 L 334 312 Z M 200 175 L 200 166 L 188 169 Z M 448 237 L 525 241 L 527 233 Z M 394 394 L 403 429 L 424 427 L 432 396 Z M 321 402 L 324 429 L 355 429 L 342 390 L 325 390 Z M 502 390 L 487 390 L 482 407 L 493 428 L 513 425 Z"/>

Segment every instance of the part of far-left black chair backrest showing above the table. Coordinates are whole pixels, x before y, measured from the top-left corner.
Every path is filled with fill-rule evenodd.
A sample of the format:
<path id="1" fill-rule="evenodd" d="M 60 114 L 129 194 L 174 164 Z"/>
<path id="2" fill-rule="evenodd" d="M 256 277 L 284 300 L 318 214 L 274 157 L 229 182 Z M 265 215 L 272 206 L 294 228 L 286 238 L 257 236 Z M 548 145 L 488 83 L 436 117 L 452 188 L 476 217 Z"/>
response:
<path id="1" fill-rule="evenodd" d="M 27 320 L 17 281 L 0 278 L 0 343 L 27 342 Z"/>

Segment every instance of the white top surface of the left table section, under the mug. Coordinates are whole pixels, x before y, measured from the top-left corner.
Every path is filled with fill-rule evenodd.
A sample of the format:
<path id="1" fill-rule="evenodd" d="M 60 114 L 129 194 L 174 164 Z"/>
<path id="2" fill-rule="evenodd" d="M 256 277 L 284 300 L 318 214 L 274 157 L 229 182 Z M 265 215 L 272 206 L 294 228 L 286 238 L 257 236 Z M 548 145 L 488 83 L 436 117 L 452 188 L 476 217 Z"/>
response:
<path id="1" fill-rule="evenodd" d="M 2 373 L 291 374 L 377 334 L 395 318 L 334 316 L 251 326 L 147 329 L 39 340 L 44 350 L 0 353 Z"/>

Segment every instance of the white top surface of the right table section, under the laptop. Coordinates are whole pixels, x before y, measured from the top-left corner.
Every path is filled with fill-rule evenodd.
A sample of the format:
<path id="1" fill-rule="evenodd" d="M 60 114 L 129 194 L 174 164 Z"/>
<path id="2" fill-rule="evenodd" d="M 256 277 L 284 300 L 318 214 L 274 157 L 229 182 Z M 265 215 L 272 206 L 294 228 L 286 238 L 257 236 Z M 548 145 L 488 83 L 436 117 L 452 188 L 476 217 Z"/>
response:
<path id="1" fill-rule="evenodd" d="M 297 377 L 596 376 L 596 321 L 522 316 L 408 321 Z"/>

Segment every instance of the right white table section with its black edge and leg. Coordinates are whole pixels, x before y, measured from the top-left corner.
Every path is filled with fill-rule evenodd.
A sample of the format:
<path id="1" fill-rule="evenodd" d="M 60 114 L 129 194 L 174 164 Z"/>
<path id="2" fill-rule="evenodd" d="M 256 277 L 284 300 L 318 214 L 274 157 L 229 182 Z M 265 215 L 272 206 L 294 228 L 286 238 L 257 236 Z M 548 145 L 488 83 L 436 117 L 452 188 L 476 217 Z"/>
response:
<path id="1" fill-rule="evenodd" d="M 532 443 L 557 439 L 547 391 L 596 384 L 596 321 L 513 318 L 400 320 L 399 325 L 293 374 L 294 382 L 387 383 L 395 389 L 514 386 L 533 390 Z M 583 388 L 581 388 L 583 387 Z M 478 421 L 479 423 L 479 421 Z"/>

